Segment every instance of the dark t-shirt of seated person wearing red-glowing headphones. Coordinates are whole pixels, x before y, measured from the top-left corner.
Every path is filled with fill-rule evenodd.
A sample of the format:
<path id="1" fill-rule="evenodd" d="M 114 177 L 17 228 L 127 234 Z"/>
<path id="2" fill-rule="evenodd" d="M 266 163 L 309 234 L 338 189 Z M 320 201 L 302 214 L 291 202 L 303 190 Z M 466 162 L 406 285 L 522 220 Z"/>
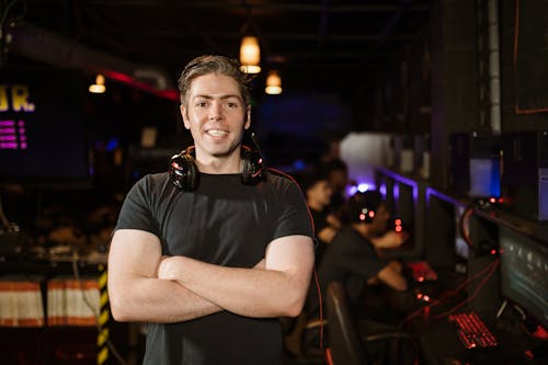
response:
<path id="1" fill-rule="evenodd" d="M 386 265 L 387 262 L 378 256 L 372 242 L 352 226 L 343 227 L 328 246 L 318 266 L 318 282 L 323 299 L 329 283 L 339 281 L 346 285 L 355 280 L 366 282 Z M 318 318 L 318 289 L 311 287 L 308 294 L 307 317 Z"/>

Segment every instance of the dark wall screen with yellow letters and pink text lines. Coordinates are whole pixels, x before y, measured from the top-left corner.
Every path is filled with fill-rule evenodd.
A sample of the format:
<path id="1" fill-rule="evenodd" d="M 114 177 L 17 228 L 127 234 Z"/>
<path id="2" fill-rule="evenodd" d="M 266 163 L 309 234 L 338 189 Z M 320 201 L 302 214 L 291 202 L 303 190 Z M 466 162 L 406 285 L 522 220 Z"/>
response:
<path id="1" fill-rule="evenodd" d="M 72 70 L 0 70 L 0 184 L 89 183 L 84 83 Z"/>

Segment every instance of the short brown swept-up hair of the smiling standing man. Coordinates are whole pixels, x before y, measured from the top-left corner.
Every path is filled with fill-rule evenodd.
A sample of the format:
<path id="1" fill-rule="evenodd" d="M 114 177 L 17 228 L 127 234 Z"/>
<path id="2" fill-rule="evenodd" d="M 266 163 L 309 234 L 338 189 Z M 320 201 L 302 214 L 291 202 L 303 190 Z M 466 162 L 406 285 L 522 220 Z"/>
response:
<path id="1" fill-rule="evenodd" d="M 238 82 L 243 104 L 248 109 L 251 102 L 251 77 L 243 73 L 237 59 L 226 56 L 205 55 L 194 58 L 185 66 L 179 78 L 178 87 L 181 93 L 181 104 L 186 106 L 186 96 L 195 78 L 215 73 L 231 77 Z"/>

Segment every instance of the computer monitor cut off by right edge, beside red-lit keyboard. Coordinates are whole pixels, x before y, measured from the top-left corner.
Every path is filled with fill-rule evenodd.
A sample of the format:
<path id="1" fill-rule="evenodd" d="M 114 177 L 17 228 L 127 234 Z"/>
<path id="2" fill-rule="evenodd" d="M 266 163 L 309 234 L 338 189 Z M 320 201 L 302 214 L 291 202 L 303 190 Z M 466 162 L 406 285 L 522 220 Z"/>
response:
<path id="1" fill-rule="evenodd" d="M 548 246 L 504 226 L 499 243 L 501 295 L 548 329 Z"/>

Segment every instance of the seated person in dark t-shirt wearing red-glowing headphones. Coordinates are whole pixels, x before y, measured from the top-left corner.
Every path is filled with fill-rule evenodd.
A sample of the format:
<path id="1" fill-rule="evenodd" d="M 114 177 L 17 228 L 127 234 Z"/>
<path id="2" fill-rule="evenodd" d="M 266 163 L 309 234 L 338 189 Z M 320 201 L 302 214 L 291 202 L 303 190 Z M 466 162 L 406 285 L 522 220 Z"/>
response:
<path id="1" fill-rule="evenodd" d="M 351 284 L 384 284 L 397 292 L 406 292 L 407 280 L 398 261 L 387 261 L 377 254 L 379 248 L 397 248 L 404 235 L 385 232 L 389 212 L 378 192 L 356 193 L 345 203 L 347 224 L 334 237 L 318 266 L 318 282 L 322 296 L 328 284 L 339 281 Z M 401 236 L 398 236 L 401 235 Z M 350 288 L 351 299 L 356 299 L 359 286 Z M 356 304 L 353 303 L 355 306 Z M 319 318 L 318 288 L 311 285 L 306 306 L 307 320 Z"/>

